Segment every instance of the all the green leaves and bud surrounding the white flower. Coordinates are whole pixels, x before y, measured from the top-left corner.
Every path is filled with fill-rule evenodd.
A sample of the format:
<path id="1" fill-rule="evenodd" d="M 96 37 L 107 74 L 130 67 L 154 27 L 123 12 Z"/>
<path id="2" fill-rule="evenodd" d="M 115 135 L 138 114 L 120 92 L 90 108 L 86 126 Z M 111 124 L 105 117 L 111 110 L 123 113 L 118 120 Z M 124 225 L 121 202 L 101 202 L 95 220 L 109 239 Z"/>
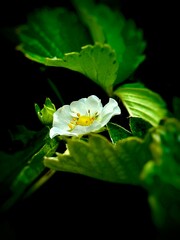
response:
<path id="1" fill-rule="evenodd" d="M 58 7 L 30 14 L 27 23 L 17 28 L 17 49 L 41 65 L 76 71 L 93 81 L 107 97 L 123 104 L 129 128 L 117 120 L 107 124 L 107 135 L 51 139 L 49 130 L 57 106 L 49 98 L 43 109 L 35 104 L 45 127 L 39 132 L 19 127 L 12 137 L 23 143 L 23 149 L 1 152 L 2 210 L 36 190 L 49 170 L 65 171 L 141 186 L 149 194 L 157 227 L 179 225 L 179 98 L 174 98 L 174 112 L 170 113 L 158 93 L 140 80 L 130 80 L 145 60 L 146 47 L 143 32 L 133 20 L 105 4 L 72 3 L 74 12 Z"/>

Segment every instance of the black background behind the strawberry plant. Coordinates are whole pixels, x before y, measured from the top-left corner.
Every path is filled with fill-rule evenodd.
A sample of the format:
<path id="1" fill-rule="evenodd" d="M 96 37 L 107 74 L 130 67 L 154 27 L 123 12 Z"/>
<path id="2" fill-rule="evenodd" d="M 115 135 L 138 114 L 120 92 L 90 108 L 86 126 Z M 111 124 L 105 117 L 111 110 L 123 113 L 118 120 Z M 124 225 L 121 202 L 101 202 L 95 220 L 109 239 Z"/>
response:
<path id="1" fill-rule="evenodd" d="M 132 18 L 143 29 L 147 57 L 135 75 L 147 87 L 161 94 L 172 110 L 172 98 L 179 95 L 177 6 L 173 1 L 104 2 L 120 8 L 127 18 Z M 11 29 L 25 23 L 29 12 L 43 6 L 72 8 L 69 1 L 48 0 L 9 0 L 0 7 L 0 131 L 3 150 L 11 145 L 9 130 L 16 125 L 23 124 L 32 130 L 41 129 L 34 103 L 41 105 L 46 97 L 50 97 L 56 106 L 59 104 L 47 77 L 60 88 L 67 104 L 76 96 L 78 99 L 90 94 L 103 96 L 102 90 L 81 74 L 58 68 L 48 68 L 42 72 L 41 65 L 31 62 L 15 50 L 16 39 L 11 35 Z M 36 236 L 49 239 L 68 239 L 70 236 L 82 239 L 128 239 L 131 234 L 138 239 L 156 239 L 158 236 L 145 190 L 60 172 L 31 197 L 3 214 L 0 227 L 1 240 Z"/>

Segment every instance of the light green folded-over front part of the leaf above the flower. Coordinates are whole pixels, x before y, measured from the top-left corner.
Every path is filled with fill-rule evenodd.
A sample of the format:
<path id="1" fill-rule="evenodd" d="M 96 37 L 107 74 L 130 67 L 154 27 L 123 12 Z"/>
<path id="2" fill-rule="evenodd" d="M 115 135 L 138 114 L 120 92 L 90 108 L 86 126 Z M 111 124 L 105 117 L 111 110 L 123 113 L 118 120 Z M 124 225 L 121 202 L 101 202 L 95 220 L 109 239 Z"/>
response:
<path id="1" fill-rule="evenodd" d="M 31 57 L 34 58 L 32 55 Z M 82 47 L 79 53 L 65 54 L 63 59 L 43 58 L 40 61 L 48 66 L 65 67 L 80 72 L 100 85 L 109 95 L 112 94 L 118 63 L 114 50 L 107 44 L 87 45 Z"/>

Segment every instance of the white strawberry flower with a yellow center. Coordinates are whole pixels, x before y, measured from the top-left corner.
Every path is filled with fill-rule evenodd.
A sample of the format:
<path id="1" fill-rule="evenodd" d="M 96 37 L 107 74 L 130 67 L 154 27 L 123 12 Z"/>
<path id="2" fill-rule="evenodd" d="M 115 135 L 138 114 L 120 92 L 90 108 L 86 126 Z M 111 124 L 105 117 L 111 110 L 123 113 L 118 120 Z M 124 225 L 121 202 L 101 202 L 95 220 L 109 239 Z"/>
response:
<path id="1" fill-rule="evenodd" d="M 103 128 L 110 119 L 121 114 L 118 103 L 113 98 L 103 107 L 101 100 L 91 95 L 73 101 L 70 105 L 60 107 L 53 114 L 53 126 L 50 129 L 50 138 L 57 135 L 82 136 L 97 132 Z"/>

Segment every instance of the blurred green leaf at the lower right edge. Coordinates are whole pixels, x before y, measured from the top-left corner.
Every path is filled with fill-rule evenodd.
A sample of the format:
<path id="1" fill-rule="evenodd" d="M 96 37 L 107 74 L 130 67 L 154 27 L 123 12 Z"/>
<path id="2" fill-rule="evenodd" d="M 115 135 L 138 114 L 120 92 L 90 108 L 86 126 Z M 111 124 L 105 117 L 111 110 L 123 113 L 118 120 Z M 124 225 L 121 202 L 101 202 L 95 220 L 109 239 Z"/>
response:
<path id="1" fill-rule="evenodd" d="M 180 226 L 180 121 L 167 118 L 147 136 L 152 159 L 141 173 L 155 225 L 165 232 Z M 177 229 L 176 229 L 177 230 Z"/>

